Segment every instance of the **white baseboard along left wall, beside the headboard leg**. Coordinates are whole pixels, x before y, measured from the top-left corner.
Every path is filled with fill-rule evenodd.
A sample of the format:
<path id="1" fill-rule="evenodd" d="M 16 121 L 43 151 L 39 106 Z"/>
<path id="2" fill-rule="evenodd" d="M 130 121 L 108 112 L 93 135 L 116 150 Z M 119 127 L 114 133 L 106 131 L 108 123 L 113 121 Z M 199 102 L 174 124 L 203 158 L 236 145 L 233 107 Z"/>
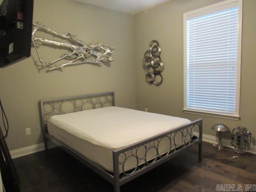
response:
<path id="1" fill-rule="evenodd" d="M 54 146 L 55 145 L 52 142 L 48 142 L 48 148 L 52 148 Z M 12 150 L 12 151 L 10 151 L 10 155 L 14 159 L 17 157 L 29 155 L 29 154 L 36 153 L 36 152 L 43 151 L 43 150 L 45 150 L 44 143 L 39 143 L 36 145 L 31 145 L 28 147 Z"/>

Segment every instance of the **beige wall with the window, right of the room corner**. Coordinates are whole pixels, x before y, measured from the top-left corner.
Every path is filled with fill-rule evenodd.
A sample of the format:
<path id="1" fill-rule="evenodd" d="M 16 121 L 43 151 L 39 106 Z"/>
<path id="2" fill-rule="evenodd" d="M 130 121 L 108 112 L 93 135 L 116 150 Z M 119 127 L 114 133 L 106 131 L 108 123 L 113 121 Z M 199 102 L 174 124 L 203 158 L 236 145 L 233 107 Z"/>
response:
<path id="1" fill-rule="evenodd" d="M 184 114 L 183 108 L 183 13 L 221 0 L 174 0 L 147 12 L 137 14 L 135 21 L 137 103 L 138 109 L 180 116 L 190 120 L 203 119 L 204 134 L 216 135 L 211 127 L 224 123 L 230 129 L 247 127 L 256 136 L 256 0 L 244 0 L 242 35 L 241 120 L 228 120 L 193 114 Z M 151 40 L 156 39 L 162 48 L 164 63 L 161 86 L 145 82 L 142 69 L 144 52 Z M 230 138 L 230 134 L 226 134 Z"/>

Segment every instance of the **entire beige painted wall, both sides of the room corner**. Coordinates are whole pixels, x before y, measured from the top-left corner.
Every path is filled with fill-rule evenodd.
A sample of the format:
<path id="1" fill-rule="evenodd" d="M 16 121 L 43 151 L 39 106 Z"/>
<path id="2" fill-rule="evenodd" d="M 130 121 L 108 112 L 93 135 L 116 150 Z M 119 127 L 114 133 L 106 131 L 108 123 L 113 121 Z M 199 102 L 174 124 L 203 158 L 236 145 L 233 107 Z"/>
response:
<path id="1" fill-rule="evenodd" d="M 40 99 L 105 91 L 116 92 L 116 106 L 148 108 L 149 112 L 190 120 L 203 118 L 205 134 L 215 135 L 210 129 L 212 125 L 224 123 L 230 129 L 246 126 L 256 135 L 256 22 L 252 22 L 252 18 L 256 18 L 255 0 L 244 0 L 241 120 L 182 112 L 183 13 L 220 1 L 174 0 L 132 17 L 72 0 L 35 0 L 34 22 L 40 21 L 58 32 L 76 34 L 87 44 L 102 42 L 116 50 L 110 66 L 82 64 L 67 67 L 63 72 L 45 72 L 38 70 L 37 55 L 32 48 L 32 57 L 0 68 L 0 96 L 10 123 L 7 138 L 10 150 L 42 142 L 38 112 Z M 146 84 L 142 69 L 144 52 L 153 39 L 160 42 L 164 62 L 164 81 L 158 87 Z M 54 48 L 42 47 L 39 50 L 47 60 L 63 54 Z M 25 136 L 25 128 L 31 128 L 31 136 Z"/>

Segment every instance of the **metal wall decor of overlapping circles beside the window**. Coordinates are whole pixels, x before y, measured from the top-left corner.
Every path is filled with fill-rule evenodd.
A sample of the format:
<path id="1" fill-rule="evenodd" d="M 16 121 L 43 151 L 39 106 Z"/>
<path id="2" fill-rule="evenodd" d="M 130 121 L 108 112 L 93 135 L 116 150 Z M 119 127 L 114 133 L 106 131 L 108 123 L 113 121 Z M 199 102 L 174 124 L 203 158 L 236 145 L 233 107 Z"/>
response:
<path id="1" fill-rule="evenodd" d="M 142 60 L 142 66 L 146 71 L 146 82 L 148 84 L 159 86 L 163 82 L 161 73 L 164 70 L 164 64 L 161 61 L 160 54 L 161 47 L 158 41 L 152 40 L 149 44 L 149 50 L 145 52 Z M 160 81 L 156 80 L 157 76 L 160 77 Z"/>

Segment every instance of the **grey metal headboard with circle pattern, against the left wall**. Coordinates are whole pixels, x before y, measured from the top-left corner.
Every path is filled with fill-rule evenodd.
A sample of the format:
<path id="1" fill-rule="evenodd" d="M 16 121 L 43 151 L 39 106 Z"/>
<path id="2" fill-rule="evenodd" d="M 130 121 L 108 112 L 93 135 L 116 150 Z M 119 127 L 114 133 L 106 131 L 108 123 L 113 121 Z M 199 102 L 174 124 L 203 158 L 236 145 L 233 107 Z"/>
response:
<path id="1" fill-rule="evenodd" d="M 108 106 L 115 106 L 114 92 L 40 100 L 42 130 L 47 131 L 50 116 Z"/>

